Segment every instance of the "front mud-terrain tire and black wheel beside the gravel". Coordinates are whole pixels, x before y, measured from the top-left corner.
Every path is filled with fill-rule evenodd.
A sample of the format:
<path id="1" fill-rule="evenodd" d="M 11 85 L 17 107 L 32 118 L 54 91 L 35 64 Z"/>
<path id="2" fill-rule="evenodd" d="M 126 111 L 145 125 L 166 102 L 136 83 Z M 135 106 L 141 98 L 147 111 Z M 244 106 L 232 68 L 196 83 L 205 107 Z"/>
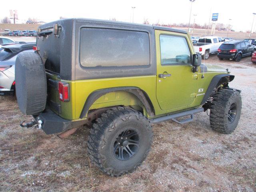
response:
<path id="1" fill-rule="evenodd" d="M 240 93 L 235 90 L 219 90 L 210 108 L 210 125 L 217 132 L 232 133 L 240 119 L 242 100 Z"/>

